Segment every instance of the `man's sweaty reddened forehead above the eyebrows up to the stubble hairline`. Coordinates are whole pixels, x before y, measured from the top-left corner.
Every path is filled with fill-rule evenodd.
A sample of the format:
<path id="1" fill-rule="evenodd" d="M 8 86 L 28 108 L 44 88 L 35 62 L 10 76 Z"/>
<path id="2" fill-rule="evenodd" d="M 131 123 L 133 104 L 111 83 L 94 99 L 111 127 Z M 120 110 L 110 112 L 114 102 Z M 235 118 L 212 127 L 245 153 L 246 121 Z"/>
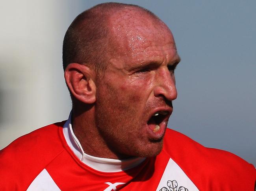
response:
<path id="1" fill-rule="evenodd" d="M 127 9 L 111 16 L 111 34 L 115 41 L 112 61 L 123 64 L 160 61 L 176 56 L 176 46 L 169 28 L 160 20 Z M 167 58 L 168 57 L 168 58 Z"/>

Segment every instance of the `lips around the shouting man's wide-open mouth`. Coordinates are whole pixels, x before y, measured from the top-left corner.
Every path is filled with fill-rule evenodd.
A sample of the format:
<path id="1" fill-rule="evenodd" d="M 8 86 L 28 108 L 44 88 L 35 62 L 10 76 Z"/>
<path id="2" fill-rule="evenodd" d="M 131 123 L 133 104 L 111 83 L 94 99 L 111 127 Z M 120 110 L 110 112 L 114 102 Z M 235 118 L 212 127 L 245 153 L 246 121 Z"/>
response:
<path id="1" fill-rule="evenodd" d="M 155 113 L 161 113 L 161 112 L 167 112 L 167 115 L 164 116 L 163 120 L 161 121 L 160 124 L 158 124 L 160 126 L 159 131 L 154 132 L 146 123 L 147 126 L 147 132 L 148 132 L 148 136 L 151 140 L 160 140 L 161 138 L 163 138 L 164 134 L 165 134 L 165 129 L 167 128 L 167 123 L 169 120 L 169 117 L 171 116 L 172 112 L 173 112 L 173 108 L 172 107 L 158 107 L 153 109 L 150 112 L 150 115 L 148 116 L 147 122 L 150 120 L 150 118 L 155 114 Z"/>

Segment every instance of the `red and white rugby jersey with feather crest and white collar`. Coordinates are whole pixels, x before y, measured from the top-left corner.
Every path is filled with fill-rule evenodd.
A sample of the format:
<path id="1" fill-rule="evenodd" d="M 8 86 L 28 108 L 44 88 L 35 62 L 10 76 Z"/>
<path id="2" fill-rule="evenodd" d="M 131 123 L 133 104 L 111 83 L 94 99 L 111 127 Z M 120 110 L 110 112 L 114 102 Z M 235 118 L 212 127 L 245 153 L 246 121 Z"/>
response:
<path id="1" fill-rule="evenodd" d="M 70 118 L 64 123 L 37 129 L 0 151 L 1 191 L 254 191 L 254 166 L 171 129 L 158 156 L 113 160 L 86 155 Z"/>

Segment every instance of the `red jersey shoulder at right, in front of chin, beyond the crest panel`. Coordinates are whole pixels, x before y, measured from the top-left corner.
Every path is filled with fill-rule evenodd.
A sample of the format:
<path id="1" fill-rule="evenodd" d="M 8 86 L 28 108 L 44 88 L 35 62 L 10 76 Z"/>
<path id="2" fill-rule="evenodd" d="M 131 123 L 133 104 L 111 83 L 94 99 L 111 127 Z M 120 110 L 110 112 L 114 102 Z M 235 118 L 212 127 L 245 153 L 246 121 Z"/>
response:
<path id="1" fill-rule="evenodd" d="M 237 181 L 234 185 L 242 182 L 254 186 L 256 170 L 252 164 L 228 151 L 204 147 L 172 129 L 166 131 L 163 152 L 195 182 L 202 182 L 204 177 L 204 181 L 214 182 L 214 185 Z"/>

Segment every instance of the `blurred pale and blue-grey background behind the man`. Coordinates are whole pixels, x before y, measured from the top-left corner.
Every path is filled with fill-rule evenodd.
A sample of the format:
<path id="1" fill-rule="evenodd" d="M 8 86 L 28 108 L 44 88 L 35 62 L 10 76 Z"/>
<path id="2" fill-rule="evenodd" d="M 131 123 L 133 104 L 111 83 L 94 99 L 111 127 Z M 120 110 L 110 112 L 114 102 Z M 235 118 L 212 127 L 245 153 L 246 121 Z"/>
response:
<path id="1" fill-rule="evenodd" d="M 67 119 L 61 64 L 67 27 L 102 0 L 6 1 L 0 8 L 0 149 Z M 126 0 L 158 15 L 182 62 L 168 126 L 256 165 L 256 1 Z"/>

